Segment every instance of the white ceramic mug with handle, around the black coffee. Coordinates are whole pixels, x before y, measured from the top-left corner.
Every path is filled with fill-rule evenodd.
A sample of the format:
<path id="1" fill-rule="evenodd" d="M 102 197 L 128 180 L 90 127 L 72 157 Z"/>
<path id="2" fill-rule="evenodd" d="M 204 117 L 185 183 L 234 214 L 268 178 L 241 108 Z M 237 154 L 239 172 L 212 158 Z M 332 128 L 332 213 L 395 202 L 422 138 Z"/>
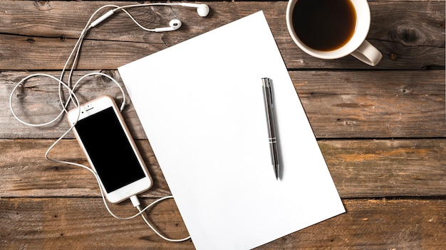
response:
<path id="1" fill-rule="evenodd" d="M 354 11 L 356 11 L 356 28 L 354 29 L 353 35 L 347 43 L 342 45 L 340 48 L 329 51 L 321 51 L 310 48 L 296 35 L 292 18 L 294 7 L 298 1 L 302 0 L 289 0 L 286 8 L 286 26 L 288 27 L 288 31 L 291 38 L 293 38 L 294 43 L 296 43 L 301 50 L 308 53 L 308 55 L 321 59 L 336 59 L 350 54 L 358 60 L 361 60 L 362 62 L 365 62 L 371 66 L 377 65 L 381 58 L 383 58 L 380 51 L 365 40 L 370 28 L 370 8 L 368 7 L 367 0 L 350 0 Z"/>

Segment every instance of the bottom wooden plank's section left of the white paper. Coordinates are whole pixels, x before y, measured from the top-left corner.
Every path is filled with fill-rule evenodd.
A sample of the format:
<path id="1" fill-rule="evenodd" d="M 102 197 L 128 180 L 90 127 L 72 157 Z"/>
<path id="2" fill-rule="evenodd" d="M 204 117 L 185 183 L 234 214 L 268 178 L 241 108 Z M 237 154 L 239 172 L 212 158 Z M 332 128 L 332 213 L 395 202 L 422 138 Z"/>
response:
<path id="1" fill-rule="evenodd" d="M 157 237 L 141 217 L 111 217 L 100 198 L 2 197 L 0 204 L 0 249 L 194 249 L 191 241 L 170 243 Z M 120 217 L 138 212 L 130 202 L 111 209 Z M 188 235 L 173 200 L 155 205 L 146 217 L 167 237 Z"/>

